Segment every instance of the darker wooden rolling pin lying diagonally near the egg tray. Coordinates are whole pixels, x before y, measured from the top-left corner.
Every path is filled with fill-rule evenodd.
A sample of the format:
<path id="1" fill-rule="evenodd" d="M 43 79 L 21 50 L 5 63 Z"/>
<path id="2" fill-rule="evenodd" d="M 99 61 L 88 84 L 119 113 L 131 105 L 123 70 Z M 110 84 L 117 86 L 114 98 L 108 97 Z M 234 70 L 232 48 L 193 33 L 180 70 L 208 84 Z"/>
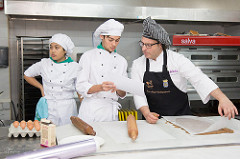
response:
<path id="1" fill-rule="evenodd" d="M 96 132 L 93 130 L 93 128 L 88 125 L 87 123 L 85 123 L 82 119 L 80 119 L 79 117 L 76 116 L 71 116 L 71 121 L 73 123 L 73 125 L 78 128 L 82 133 L 84 133 L 85 135 L 96 135 Z"/>

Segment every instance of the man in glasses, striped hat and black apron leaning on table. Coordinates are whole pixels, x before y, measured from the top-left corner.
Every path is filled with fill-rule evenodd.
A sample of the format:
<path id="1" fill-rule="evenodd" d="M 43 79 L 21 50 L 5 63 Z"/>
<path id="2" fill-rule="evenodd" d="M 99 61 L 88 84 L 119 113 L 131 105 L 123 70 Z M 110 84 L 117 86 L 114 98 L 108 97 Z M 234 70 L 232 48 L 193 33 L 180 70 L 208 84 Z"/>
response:
<path id="1" fill-rule="evenodd" d="M 145 83 L 146 97 L 134 95 L 137 109 L 149 123 L 159 116 L 190 115 L 187 80 L 197 90 L 203 103 L 210 96 L 219 101 L 218 112 L 229 119 L 238 114 L 233 103 L 218 86 L 182 54 L 167 50 L 171 45 L 168 33 L 150 17 L 143 22 L 139 41 L 144 55 L 133 61 L 132 79 Z"/>

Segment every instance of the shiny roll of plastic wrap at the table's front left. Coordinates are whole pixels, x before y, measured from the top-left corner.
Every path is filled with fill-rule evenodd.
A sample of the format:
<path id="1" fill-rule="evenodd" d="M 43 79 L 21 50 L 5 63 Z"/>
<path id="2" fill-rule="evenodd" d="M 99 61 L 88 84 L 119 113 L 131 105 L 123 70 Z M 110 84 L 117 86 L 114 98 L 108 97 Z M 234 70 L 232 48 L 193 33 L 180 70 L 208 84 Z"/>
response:
<path id="1" fill-rule="evenodd" d="M 89 139 L 36 151 L 24 152 L 21 154 L 8 156 L 7 159 L 67 159 L 94 153 L 96 152 L 96 149 L 97 147 L 94 139 Z"/>

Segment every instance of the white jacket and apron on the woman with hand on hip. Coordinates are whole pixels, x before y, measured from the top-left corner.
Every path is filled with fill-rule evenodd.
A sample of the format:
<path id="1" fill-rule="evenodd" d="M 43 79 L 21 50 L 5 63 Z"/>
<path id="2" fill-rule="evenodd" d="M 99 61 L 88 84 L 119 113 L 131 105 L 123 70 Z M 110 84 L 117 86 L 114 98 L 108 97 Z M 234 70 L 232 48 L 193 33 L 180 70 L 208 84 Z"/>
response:
<path id="1" fill-rule="evenodd" d="M 42 77 L 48 119 L 56 125 L 69 124 L 70 117 L 77 115 L 74 92 L 78 72 L 78 63 L 55 63 L 50 58 L 43 58 L 24 72 L 28 77 Z"/>

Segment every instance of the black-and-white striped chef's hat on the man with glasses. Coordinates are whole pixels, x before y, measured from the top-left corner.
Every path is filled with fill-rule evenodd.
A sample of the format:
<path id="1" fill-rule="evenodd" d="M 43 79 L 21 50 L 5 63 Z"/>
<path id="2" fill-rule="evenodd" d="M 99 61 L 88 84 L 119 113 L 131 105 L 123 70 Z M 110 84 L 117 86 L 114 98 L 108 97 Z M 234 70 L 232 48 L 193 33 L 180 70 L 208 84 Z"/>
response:
<path id="1" fill-rule="evenodd" d="M 171 45 L 171 41 L 166 30 L 161 25 L 157 24 L 155 20 L 151 19 L 151 17 L 147 17 L 143 21 L 142 36 L 145 38 L 157 40 L 167 47 Z"/>

